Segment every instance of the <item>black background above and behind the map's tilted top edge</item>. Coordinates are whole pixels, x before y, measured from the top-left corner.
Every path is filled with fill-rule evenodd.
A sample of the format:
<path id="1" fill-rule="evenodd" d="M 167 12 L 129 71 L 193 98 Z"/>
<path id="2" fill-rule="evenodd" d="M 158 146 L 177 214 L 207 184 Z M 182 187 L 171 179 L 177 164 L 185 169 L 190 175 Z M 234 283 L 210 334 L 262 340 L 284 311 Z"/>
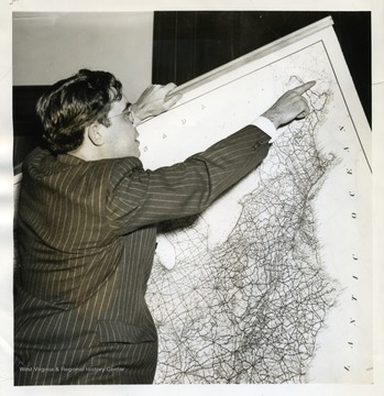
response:
<path id="1" fill-rule="evenodd" d="M 371 123 L 371 12 L 155 12 L 152 80 L 180 85 L 328 15 Z"/>

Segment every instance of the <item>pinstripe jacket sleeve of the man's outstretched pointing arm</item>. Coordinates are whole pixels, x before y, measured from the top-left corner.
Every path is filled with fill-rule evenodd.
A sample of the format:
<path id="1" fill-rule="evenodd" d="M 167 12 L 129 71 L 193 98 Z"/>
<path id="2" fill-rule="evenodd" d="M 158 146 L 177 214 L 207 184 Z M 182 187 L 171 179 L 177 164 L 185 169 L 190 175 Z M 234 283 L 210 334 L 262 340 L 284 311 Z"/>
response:
<path id="1" fill-rule="evenodd" d="M 259 128 L 248 125 L 183 163 L 121 173 L 107 202 L 111 227 L 128 233 L 201 212 L 264 160 L 270 139 Z"/>

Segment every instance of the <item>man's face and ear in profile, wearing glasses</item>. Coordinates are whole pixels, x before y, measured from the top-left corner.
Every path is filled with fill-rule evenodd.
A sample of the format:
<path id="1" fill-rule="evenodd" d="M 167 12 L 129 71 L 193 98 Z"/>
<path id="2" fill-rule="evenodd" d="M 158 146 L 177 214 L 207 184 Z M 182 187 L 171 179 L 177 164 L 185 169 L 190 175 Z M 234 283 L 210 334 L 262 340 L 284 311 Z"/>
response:
<path id="1" fill-rule="evenodd" d="M 108 113 L 110 127 L 101 127 L 105 129 L 103 133 L 111 158 L 140 156 L 139 133 L 128 112 L 129 106 L 130 102 L 124 96 L 121 100 L 113 102 Z"/>

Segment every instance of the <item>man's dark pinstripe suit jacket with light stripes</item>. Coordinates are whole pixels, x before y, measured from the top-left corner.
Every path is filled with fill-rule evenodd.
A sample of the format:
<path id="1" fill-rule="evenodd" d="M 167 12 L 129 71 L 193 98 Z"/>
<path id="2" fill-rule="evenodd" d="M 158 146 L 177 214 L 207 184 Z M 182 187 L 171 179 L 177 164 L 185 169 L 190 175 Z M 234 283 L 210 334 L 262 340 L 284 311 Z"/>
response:
<path id="1" fill-rule="evenodd" d="M 255 168 L 268 136 L 249 125 L 184 163 L 84 162 L 41 148 L 24 162 L 15 277 L 15 384 L 151 383 L 145 304 L 156 223 L 196 215 Z"/>

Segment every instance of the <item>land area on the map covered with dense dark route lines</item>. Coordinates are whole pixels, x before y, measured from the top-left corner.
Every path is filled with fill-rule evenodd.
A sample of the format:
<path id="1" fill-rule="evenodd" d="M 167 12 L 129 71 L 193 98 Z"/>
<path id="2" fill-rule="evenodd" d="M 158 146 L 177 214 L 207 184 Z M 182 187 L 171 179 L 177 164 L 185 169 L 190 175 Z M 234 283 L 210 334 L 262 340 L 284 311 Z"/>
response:
<path id="1" fill-rule="evenodd" d="M 164 224 L 169 271 L 155 257 L 147 302 L 162 384 L 301 383 L 338 284 L 322 268 L 312 202 L 336 157 L 315 134 L 328 95 L 271 147 L 228 239 L 209 246 L 201 217 Z"/>

